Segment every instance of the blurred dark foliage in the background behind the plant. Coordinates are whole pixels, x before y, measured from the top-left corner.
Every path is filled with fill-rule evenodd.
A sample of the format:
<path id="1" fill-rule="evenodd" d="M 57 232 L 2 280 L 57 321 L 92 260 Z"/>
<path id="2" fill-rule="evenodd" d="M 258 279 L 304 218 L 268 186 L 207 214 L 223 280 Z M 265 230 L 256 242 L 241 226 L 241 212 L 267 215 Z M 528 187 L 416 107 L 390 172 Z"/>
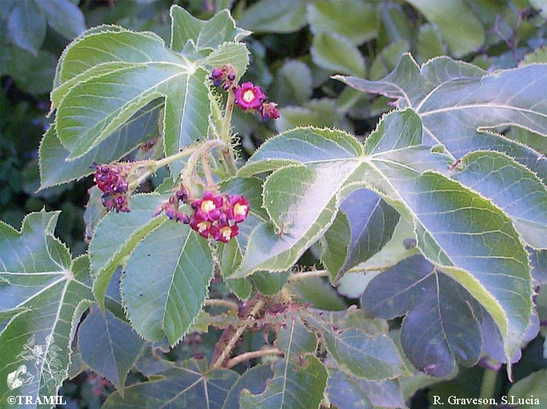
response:
<path id="1" fill-rule="evenodd" d="M 49 126 L 48 93 L 56 60 L 69 41 L 86 27 L 102 23 L 150 30 L 168 41 L 171 3 L 0 1 L 1 220 L 19 226 L 26 213 L 43 207 L 60 209 L 58 236 L 74 255 L 84 253 L 84 209 L 91 178 L 35 193 L 39 183 L 37 150 L 40 137 Z M 281 119 L 275 124 L 263 124 L 252 115 L 238 112 L 235 127 L 242 141 L 242 156 L 252 154 L 275 132 L 297 125 L 344 128 L 366 137 L 388 110 L 387 100 L 349 89 L 342 91 L 340 82 L 329 79 L 333 73 L 377 80 L 391 71 L 406 51 L 412 51 L 419 63 L 447 54 L 488 71 L 517 67 L 522 61 L 547 62 L 547 10 L 541 10 L 538 0 L 323 1 L 314 3 L 312 11 L 305 0 L 178 3 L 202 19 L 222 8 L 231 8 L 238 24 L 255 32 L 246 38 L 252 51 L 246 79 L 263 86 L 270 99 L 279 102 Z M 547 154 L 547 139 L 526 130 L 499 131 Z M 309 258 L 310 263 L 315 261 L 313 255 Z M 222 295 L 226 288 L 213 283 L 212 292 Z M 540 297 L 545 299 L 545 292 Z M 543 319 L 543 335 L 524 349 L 522 360 L 515 366 L 515 381 L 547 367 L 547 312 L 545 307 L 541 309 L 541 303 L 539 315 Z M 210 358 L 219 335 L 220 331 L 210 330 L 203 336 L 189 336 L 165 358 Z M 247 346 L 253 342 L 251 336 L 244 340 Z M 81 373 L 63 386 L 69 397 L 68 407 L 100 407 L 113 388 L 79 367 L 78 354 L 73 361 L 71 375 Z M 146 353 L 140 365 L 146 367 Z M 148 368 L 149 373 L 153 371 L 154 368 Z M 482 366 L 461 369 L 455 379 L 420 389 L 411 401 L 412 408 L 425 408 L 432 395 L 478 396 L 483 371 Z M 498 374 L 499 396 L 507 394 L 510 384 L 504 371 Z M 128 384 L 138 380 L 137 375 L 130 373 Z"/>

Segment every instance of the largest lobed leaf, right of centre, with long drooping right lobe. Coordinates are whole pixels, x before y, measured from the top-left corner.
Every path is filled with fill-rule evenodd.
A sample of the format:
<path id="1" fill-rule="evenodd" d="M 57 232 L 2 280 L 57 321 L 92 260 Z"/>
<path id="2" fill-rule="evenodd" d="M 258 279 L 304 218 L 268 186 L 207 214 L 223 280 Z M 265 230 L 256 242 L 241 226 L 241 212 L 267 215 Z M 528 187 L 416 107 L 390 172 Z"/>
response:
<path id="1" fill-rule="evenodd" d="M 264 207 L 271 224 L 251 233 L 233 277 L 288 268 L 332 224 L 340 196 L 364 186 L 412 220 L 418 247 L 485 306 L 511 357 L 531 317 L 526 251 L 500 207 L 445 176 L 451 175 L 450 162 L 421 145 L 420 119 L 412 110 L 384 116 L 364 148 L 343 132 L 314 128 L 264 143 L 240 174 L 290 166 L 266 178 Z M 504 172 L 514 178 L 511 167 Z M 487 194 L 485 186 L 474 188 Z"/>

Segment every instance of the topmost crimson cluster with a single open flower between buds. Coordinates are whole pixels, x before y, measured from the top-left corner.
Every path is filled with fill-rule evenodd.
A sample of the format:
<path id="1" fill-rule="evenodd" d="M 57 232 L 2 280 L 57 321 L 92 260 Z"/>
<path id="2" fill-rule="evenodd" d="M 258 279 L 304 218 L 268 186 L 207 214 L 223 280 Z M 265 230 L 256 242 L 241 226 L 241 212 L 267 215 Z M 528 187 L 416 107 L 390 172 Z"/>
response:
<path id="1" fill-rule="evenodd" d="M 224 91 L 233 91 L 234 102 L 242 110 L 255 110 L 264 121 L 279 118 L 277 104 L 267 102 L 268 97 L 259 86 L 255 86 L 253 82 L 244 82 L 239 86 L 235 84 L 235 69 L 231 65 L 213 69 L 209 79 L 213 81 L 214 86 L 222 85 Z"/>

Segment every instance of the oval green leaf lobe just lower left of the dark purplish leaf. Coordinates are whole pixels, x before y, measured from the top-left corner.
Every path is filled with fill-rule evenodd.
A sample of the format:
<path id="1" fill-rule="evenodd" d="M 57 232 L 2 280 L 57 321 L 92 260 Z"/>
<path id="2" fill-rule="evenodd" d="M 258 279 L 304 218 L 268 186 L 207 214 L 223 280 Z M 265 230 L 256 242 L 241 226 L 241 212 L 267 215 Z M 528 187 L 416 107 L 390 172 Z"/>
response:
<path id="1" fill-rule="evenodd" d="M 397 347 L 386 334 L 361 328 L 332 327 L 312 314 L 305 316 L 321 332 L 327 351 L 345 373 L 369 380 L 393 379 L 406 372 Z"/>

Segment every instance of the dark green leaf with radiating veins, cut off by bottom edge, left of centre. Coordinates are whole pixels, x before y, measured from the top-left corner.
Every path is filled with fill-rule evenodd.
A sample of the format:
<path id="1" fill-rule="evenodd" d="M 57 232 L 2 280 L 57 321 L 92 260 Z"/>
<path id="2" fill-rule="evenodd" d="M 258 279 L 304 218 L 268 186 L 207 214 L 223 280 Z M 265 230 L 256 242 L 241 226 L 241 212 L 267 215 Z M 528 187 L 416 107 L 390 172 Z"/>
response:
<path id="1" fill-rule="evenodd" d="M 199 360 L 183 362 L 154 379 L 126 388 L 106 399 L 104 409 L 134 408 L 221 408 L 238 375 L 227 369 L 204 371 Z"/>

